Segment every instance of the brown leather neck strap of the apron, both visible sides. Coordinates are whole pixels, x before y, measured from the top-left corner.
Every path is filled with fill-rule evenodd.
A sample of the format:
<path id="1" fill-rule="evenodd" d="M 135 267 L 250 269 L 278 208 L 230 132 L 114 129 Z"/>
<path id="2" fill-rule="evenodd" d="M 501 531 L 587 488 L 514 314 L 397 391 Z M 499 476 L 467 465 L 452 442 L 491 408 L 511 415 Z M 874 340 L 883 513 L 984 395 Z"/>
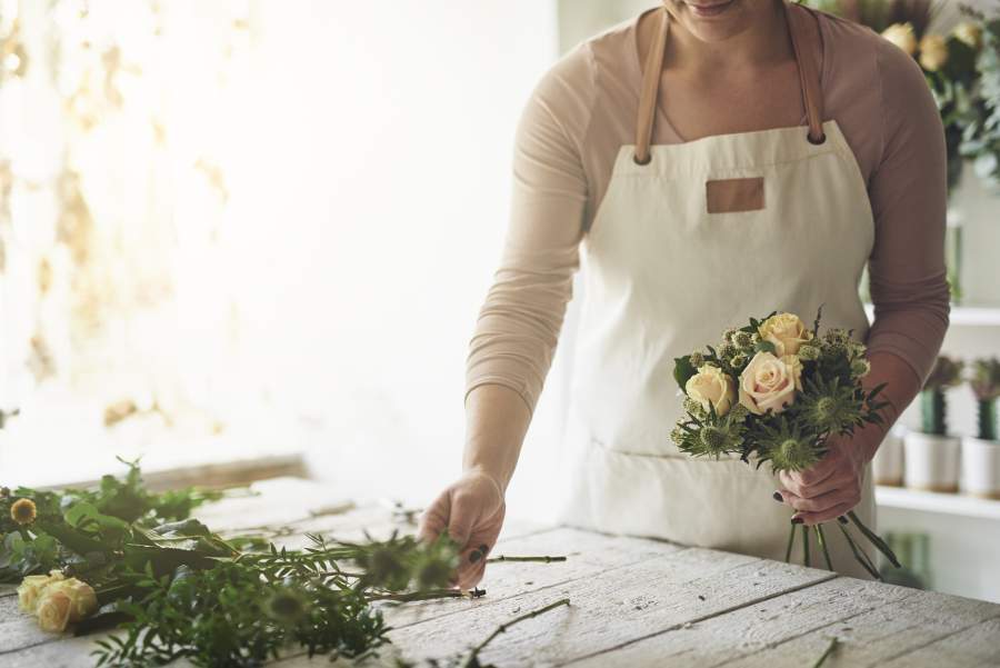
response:
<path id="1" fill-rule="evenodd" d="M 781 0 L 791 36 L 792 50 L 799 69 L 799 83 L 802 88 L 802 103 L 806 107 L 806 119 L 809 122 L 807 139 L 812 143 L 827 140 L 823 133 L 823 96 L 820 88 L 819 66 L 813 53 L 820 50 L 821 36 L 816 16 L 807 8 L 789 0 Z M 657 101 L 660 96 L 660 78 L 663 70 L 663 54 L 667 49 L 667 34 L 670 30 L 670 12 L 660 9 L 660 23 L 653 38 L 652 48 L 646 57 L 642 69 L 642 90 L 639 94 L 639 120 L 636 124 L 636 154 L 633 160 L 647 164 L 652 156 L 653 121 L 657 114 Z"/>

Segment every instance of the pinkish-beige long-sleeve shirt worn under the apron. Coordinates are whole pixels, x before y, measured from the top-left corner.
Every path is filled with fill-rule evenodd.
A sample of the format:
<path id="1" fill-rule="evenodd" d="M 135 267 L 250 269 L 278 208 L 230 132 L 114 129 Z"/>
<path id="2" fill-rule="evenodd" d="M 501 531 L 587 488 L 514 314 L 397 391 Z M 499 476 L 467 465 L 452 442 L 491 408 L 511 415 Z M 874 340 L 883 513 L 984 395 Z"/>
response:
<path id="1" fill-rule="evenodd" d="M 572 297 L 580 241 L 607 191 L 619 148 L 634 143 L 639 16 L 563 56 L 522 111 L 511 217 L 470 341 L 466 398 L 481 385 L 498 383 L 534 411 Z M 869 350 L 898 356 L 922 383 L 949 315 L 940 116 L 910 56 L 868 28 L 819 16 L 822 44 L 814 57 L 821 63 L 823 120 L 834 119 L 843 131 L 876 223 Z M 663 94 L 669 99 L 669 91 Z M 680 141 L 658 117 L 653 143 Z"/>

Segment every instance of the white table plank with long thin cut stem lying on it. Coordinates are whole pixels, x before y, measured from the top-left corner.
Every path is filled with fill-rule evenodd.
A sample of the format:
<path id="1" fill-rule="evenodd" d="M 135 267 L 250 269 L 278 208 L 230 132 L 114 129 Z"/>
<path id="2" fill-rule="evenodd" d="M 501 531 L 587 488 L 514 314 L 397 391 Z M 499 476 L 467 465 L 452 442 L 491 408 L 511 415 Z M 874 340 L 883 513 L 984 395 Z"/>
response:
<path id="1" fill-rule="evenodd" d="M 390 637 L 410 660 L 441 658 L 487 637 L 518 614 L 569 597 L 570 608 L 547 615 L 543 622 L 511 629 L 482 656 L 483 664 L 558 664 L 833 577 L 800 566 L 692 548 L 499 604 L 473 601 L 478 605 L 468 606 L 460 621 L 448 616 L 398 629 Z"/>

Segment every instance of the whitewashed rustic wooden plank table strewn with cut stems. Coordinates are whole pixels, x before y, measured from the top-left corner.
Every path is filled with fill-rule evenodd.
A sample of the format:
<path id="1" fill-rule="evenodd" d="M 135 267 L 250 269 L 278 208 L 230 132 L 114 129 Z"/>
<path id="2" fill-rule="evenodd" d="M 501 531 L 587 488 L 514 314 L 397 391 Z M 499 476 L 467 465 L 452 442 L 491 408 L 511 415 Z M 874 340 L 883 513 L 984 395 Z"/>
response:
<path id="1" fill-rule="evenodd" d="M 199 515 L 216 530 L 289 525 L 280 540 L 323 531 L 356 539 L 412 530 L 383 505 L 351 508 L 314 482 L 277 479 L 258 497 L 227 499 Z M 350 508 L 350 509 L 347 509 Z M 727 666 L 809 668 L 832 638 L 836 667 L 1000 666 L 1000 605 L 838 577 L 667 542 L 509 521 L 496 555 L 567 555 L 564 562 L 492 564 L 487 596 L 387 608 L 393 646 L 366 666 L 444 658 L 500 624 L 568 597 L 570 607 L 513 627 L 483 652 L 512 666 Z M 93 638 L 53 636 L 0 590 L 0 666 L 91 666 Z M 290 656 L 278 665 L 330 665 Z M 346 661 L 340 665 L 348 665 Z"/>

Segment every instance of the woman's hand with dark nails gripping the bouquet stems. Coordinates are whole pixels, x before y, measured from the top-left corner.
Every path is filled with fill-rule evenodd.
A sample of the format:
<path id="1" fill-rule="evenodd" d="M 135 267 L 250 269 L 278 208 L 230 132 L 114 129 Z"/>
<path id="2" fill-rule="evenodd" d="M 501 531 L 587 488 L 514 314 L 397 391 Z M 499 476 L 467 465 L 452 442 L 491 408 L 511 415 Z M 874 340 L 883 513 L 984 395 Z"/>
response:
<path id="1" fill-rule="evenodd" d="M 853 438 L 831 436 L 829 441 L 830 449 L 816 466 L 804 471 L 781 471 L 778 476 L 784 489 L 774 492 L 774 500 L 798 510 L 792 517 L 794 524 L 830 521 L 861 502 L 861 477 L 867 461 L 864 430 L 858 430 Z"/>

